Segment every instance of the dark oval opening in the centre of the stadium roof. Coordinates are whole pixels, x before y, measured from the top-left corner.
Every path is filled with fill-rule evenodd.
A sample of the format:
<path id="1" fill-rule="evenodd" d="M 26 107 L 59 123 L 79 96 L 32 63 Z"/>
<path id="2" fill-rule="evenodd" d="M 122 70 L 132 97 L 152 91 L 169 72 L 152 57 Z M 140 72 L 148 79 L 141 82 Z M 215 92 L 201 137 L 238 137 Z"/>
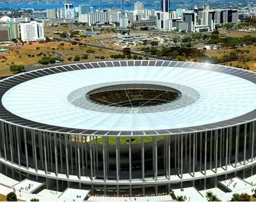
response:
<path id="1" fill-rule="evenodd" d="M 92 90 L 86 98 L 93 102 L 116 107 L 156 106 L 181 97 L 181 92 L 158 85 L 114 85 Z"/>

